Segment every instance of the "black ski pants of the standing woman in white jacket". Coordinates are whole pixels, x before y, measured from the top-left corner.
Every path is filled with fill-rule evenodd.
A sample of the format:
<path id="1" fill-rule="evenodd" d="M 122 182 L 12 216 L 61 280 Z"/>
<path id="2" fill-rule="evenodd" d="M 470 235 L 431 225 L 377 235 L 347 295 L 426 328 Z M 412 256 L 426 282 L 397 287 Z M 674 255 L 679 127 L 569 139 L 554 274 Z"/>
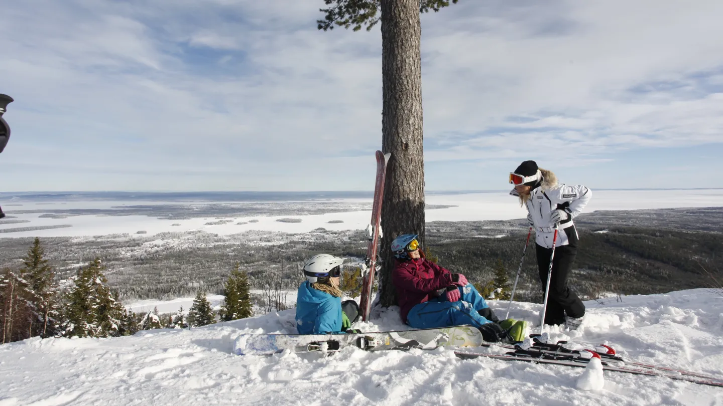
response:
<path id="1" fill-rule="evenodd" d="M 570 243 L 555 247 L 555 259 L 552 259 L 552 276 L 549 280 L 549 295 L 547 296 L 547 310 L 544 315 L 544 324 L 565 324 L 565 314 L 570 317 L 585 315 L 585 305 L 578 295 L 568 288 L 568 275 L 573 268 L 573 261 L 578 254 L 578 236 L 575 227 L 560 230 L 568 235 Z M 549 270 L 549 257 L 552 249 L 536 245 L 537 267 L 539 269 L 542 292 L 544 295 Z"/>

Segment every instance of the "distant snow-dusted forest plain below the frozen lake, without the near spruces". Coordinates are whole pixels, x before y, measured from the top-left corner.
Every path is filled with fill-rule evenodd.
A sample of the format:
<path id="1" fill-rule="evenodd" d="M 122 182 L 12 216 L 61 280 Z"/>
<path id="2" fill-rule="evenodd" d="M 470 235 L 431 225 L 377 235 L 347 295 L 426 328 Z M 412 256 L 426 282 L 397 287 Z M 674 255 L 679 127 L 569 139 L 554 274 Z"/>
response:
<path id="1" fill-rule="evenodd" d="M 580 254 L 570 283 L 592 300 L 611 294 L 665 293 L 701 288 L 723 279 L 716 264 L 723 246 L 723 209 L 597 211 L 578 219 Z M 469 275 L 472 282 L 492 279 L 501 260 L 516 271 L 526 236 L 523 220 L 427 223 L 428 249 L 440 264 Z M 0 269 L 17 269 L 31 238 L 6 238 Z M 43 238 L 49 263 L 60 280 L 96 257 L 103 259 L 108 283 L 122 301 L 168 300 L 194 296 L 198 290 L 221 294 L 236 263 L 249 274 L 253 288 L 283 275 L 289 288 L 299 280 L 300 264 L 326 252 L 358 266 L 367 239 L 361 230 L 317 229 L 310 233 L 247 231 L 218 236 L 203 231 L 134 237 Z M 526 260 L 521 300 L 541 301 L 536 265 Z"/>

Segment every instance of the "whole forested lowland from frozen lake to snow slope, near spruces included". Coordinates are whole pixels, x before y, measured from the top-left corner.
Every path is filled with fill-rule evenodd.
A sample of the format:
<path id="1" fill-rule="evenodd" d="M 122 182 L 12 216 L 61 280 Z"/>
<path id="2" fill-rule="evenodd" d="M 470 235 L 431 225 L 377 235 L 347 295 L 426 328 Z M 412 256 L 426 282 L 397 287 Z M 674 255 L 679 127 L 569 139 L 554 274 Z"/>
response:
<path id="1" fill-rule="evenodd" d="M 716 258 L 723 247 L 723 209 L 594 212 L 578 217 L 578 224 L 585 249 L 570 285 L 587 300 L 603 303 L 611 297 L 622 300 L 623 295 L 722 287 Z M 429 223 L 427 253 L 443 267 L 468 275 L 486 295 L 500 289 L 497 298 L 505 298 L 525 237 L 523 227 L 518 220 Z M 300 234 L 217 236 L 199 231 L 4 242 L 2 342 L 35 335 L 118 337 L 140 330 L 200 327 L 254 311 L 283 311 L 293 306 L 301 264 L 320 252 L 348 259 L 342 290 L 354 297 L 367 244 L 361 231 L 322 228 Z M 536 264 L 528 259 L 523 270 L 516 298 L 542 303 Z M 234 285 L 239 278 L 242 288 Z M 225 303 L 243 296 L 246 310 L 233 316 L 226 308 L 217 317 L 207 294 L 223 294 Z M 229 294 L 234 296 L 230 302 Z M 189 296 L 196 297 L 186 309 L 190 313 L 183 308 L 135 313 L 121 305 Z"/>

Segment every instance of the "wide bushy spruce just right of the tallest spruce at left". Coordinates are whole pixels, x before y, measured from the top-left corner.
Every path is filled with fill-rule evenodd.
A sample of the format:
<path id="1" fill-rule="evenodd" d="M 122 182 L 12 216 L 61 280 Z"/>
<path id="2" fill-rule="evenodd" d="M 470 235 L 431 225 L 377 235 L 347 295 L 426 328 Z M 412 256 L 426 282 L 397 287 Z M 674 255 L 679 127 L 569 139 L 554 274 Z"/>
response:
<path id="1" fill-rule="evenodd" d="M 63 335 L 114 337 L 121 334 L 125 309 L 107 286 L 99 258 L 78 269 L 66 295 Z"/>

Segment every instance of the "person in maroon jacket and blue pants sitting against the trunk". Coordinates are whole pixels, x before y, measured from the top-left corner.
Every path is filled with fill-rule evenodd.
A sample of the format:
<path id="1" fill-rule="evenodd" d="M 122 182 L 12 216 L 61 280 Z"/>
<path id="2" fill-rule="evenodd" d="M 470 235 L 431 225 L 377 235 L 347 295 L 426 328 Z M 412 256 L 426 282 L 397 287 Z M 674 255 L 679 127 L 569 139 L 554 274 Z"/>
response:
<path id="1" fill-rule="evenodd" d="M 485 341 L 497 342 L 505 333 L 487 301 L 462 274 L 449 272 L 427 261 L 419 251 L 415 234 L 403 234 L 392 242 L 397 258 L 392 282 L 397 291 L 401 318 L 415 329 L 471 324 Z"/>

